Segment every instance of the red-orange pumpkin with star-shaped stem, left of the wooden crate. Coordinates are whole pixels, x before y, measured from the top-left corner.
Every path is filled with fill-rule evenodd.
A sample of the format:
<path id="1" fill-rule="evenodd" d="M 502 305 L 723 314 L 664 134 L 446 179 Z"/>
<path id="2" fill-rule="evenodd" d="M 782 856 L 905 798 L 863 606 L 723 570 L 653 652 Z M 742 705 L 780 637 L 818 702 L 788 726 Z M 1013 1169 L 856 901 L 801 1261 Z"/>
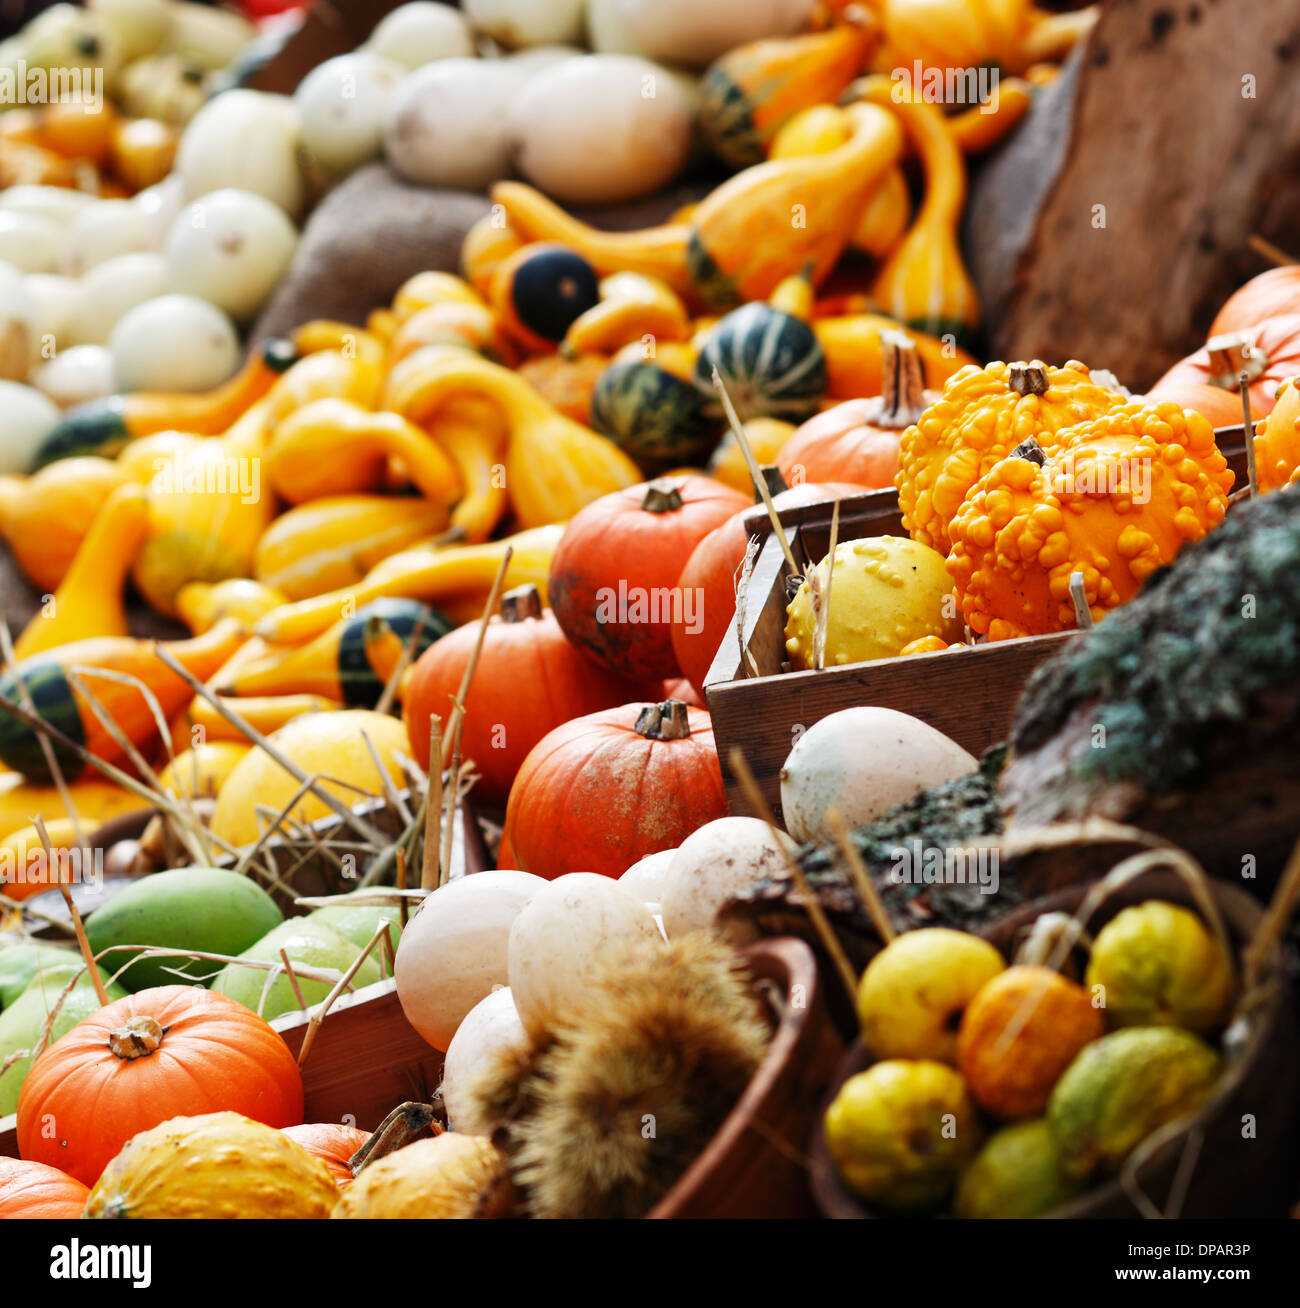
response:
<path id="1" fill-rule="evenodd" d="M 548 594 L 565 636 L 638 681 L 680 675 L 672 621 L 692 619 L 693 596 L 677 578 L 694 547 L 748 502 L 721 481 L 684 476 L 589 504 L 551 560 Z"/>

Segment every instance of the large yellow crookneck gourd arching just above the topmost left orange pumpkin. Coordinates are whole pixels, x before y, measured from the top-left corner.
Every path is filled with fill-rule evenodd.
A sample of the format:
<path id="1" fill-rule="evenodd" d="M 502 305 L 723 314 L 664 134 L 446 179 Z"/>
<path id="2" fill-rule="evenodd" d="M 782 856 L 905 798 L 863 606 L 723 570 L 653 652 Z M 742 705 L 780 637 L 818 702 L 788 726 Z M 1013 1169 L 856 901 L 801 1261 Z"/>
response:
<path id="1" fill-rule="evenodd" d="M 388 408 L 439 438 L 439 411 L 466 399 L 492 403 L 505 420 L 505 487 L 523 527 L 568 522 L 592 500 L 641 480 L 612 441 L 551 408 L 518 373 L 464 351 L 416 351 L 392 369 L 385 390 Z"/>

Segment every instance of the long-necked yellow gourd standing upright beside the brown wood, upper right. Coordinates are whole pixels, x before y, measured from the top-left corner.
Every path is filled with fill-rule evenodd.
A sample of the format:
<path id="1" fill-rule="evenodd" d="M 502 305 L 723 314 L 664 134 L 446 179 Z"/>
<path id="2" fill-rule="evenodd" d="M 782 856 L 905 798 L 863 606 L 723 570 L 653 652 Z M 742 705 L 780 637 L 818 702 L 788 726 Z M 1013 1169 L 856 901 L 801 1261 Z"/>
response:
<path id="1" fill-rule="evenodd" d="M 957 243 L 966 170 L 942 111 L 888 77 L 864 77 L 855 88 L 868 103 L 898 115 L 921 156 L 926 194 L 906 235 L 871 285 L 881 310 L 930 336 L 969 348 L 980 327 L 980 297 Z M 884 111 L 884 110 L 881 110 Z"/>

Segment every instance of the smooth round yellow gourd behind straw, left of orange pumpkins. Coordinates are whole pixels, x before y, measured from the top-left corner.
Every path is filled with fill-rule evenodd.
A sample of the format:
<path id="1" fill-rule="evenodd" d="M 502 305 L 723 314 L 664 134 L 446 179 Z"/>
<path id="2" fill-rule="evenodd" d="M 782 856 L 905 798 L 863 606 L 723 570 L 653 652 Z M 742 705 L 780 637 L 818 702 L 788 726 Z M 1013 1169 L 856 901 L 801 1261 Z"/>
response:
<path id="1" fill-rule="evenodd" d="M 392 781 L 404 785 L 396 756 L 408 753 L 411 743 L 402 722 L 386 713 L 369 709 L 307 713 L 273 732 L 269 740 L 309 776 L 328 778 L 320 781 L 320 789 L 345 804 L 354 804 L 366 795 L 383 793 L 383 778 L 366 748 L 366 738 Z M 259 818 L 258 807 L 276 815 L 298 789 L 299 783 L 275 759 L 263 749 L 250 749 L 217 794 L 212 829 L 234 845 L 248 845 L 271 820 Z M 290 810 L 299 823 L 313 823 L 330 812 L 330 806 L 314 794 L 305 794 Z"/>

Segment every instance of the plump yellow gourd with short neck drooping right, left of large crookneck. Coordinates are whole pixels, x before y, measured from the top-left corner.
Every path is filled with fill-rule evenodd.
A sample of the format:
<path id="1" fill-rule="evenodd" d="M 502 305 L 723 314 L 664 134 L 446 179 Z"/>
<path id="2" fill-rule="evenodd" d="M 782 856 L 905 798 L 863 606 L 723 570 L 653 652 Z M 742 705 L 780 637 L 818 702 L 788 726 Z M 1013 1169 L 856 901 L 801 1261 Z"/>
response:
<path id="1" fill-rule="evenodd" d="M 345 399 L 294 409 L 276 425 L 263 456 L 267 480 L 289 504 L 377 490 L 390 459 L 400 459 L 434 504 L 459 497 L 460 475 L 437 441 L 399 413 L 373 413 Z"/>

